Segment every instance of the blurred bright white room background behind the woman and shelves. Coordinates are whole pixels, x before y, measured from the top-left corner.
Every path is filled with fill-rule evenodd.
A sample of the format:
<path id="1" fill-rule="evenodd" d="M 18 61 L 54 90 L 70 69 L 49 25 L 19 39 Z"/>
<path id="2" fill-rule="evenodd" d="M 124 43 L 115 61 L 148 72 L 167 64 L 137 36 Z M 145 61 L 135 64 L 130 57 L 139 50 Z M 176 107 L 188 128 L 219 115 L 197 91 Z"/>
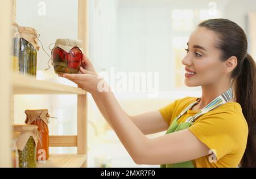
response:
<path id="1" fill-rule="evenodd" d="M 37 29 L 44 49 L 51 54 L 48 46 L 56 39 L 77 39 L 77 6 L 74 0 L 17 0 L 16 21 L 20 26 Z M 40 11 L 42 7 L 45 11 Z M 115 92 L 130 115 L 159 109 L 185 96 L 201 95 L 200 87 L 184 85 L 181 60 L 189 35 L 205 19 L 226 18 L 239 24 L 248 37 L 248 52 L 256 59 L 256 1 L 253 0 L 89 0 L 88 13 L 89 52 L 85 54 L 98 73 L 110 77 L 114 74 L 115 80 L 119 72 L 158 74 L 154 83 L 158 93 L 154 98 L 148 97 L 148 89 Z M 53 68 L 44 71 L 48 59 L 41 48 L 37 78 L 75 86 L 55 75 Z M 110 86 L 115 88 L 114 83 Z M 75 95 L 15 95 L 15 123 L 24 122 L 26 109 L 47 108 L 51 116 L 57 117 L 49 123 L 51 135 L 76 135 L 76 103 Z M 98 163 L 110 167 L 152 167 L 134 164 L 90 95 L 88 120 L 88 167 L 97 167 Z M 76 148 L 51 148 L 50 152 L 76 153 Z"/>

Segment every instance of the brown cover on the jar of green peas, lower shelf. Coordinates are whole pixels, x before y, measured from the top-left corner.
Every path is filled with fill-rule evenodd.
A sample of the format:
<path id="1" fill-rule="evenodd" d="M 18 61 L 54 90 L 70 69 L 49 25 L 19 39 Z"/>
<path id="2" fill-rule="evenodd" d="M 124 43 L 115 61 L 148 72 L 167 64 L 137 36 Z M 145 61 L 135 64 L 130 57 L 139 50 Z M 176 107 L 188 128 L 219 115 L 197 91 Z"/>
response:
<path id="1" fill-rule="evenodd" d="M 35 141 L 35 145 L 38 144 L 38 126 L 35 125 L 14 125 L 14 131 L 19 132 L 18 140 L 16 146 L 18 150 L 23 151 L 27 144 L 27 141 L 32 137 Z"/>

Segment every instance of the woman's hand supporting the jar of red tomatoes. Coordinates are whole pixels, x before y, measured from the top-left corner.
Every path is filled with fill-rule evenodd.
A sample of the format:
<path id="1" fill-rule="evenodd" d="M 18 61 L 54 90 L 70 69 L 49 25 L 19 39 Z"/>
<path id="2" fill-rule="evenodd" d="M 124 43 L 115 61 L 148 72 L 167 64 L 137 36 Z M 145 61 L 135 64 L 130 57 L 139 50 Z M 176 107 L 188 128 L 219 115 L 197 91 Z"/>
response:
<path id="1" fill-rule="evenodd" d="M 80 67 L 79 74 L 59 74 L 59 76 L 71 80 L 78 84 L 83 90 L 93 95 L 110 91 L 108 83 L 106 83 L 101 76 L 98 76 L 98 74 L 93 71 L 85 70 L 82 67 Z"/>

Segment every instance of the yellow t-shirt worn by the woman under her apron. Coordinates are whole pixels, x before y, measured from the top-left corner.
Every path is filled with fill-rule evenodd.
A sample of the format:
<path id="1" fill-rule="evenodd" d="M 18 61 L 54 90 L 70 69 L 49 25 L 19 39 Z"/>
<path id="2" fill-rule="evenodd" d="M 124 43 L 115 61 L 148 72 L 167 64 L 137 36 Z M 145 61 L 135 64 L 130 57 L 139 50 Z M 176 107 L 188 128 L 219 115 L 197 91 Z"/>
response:
<path id="1" fill-rule="evenodd" d="M 197 97 L 184 97 L 159 109 L 164 120 L 171 125 L 172 121 Z M 195 110 L 188 110 L 177 120 L 185 122 L 194 116 Z M 210 154 L 192 160 L 194 167 L 237 167 L 245 152 L 248 126 L 239 103 L 228 102 L 198 117 L 188 128 L 201 142 L 209 147 Z M 217 161 L 214 163 L 214 155 Z M 209 159 L 210 158 L 210 159 Z M 212 159 L 212 160 L 211 160 Z"/>

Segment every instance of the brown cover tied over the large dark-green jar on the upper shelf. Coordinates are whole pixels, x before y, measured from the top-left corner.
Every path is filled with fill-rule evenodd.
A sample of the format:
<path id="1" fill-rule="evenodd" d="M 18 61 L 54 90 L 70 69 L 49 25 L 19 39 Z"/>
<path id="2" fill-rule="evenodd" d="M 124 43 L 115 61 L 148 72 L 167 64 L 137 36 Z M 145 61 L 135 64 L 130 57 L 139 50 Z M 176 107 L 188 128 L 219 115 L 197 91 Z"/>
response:
<path id="1" fill-rule="evenodd" d="M 30 44 L 32 44 L 36 50 L 39 50 L 40 47 L 38 45 L 38 32 L 36 29 L 31 27 L 19 27 L 20 37 L 27 40 Z"/>

